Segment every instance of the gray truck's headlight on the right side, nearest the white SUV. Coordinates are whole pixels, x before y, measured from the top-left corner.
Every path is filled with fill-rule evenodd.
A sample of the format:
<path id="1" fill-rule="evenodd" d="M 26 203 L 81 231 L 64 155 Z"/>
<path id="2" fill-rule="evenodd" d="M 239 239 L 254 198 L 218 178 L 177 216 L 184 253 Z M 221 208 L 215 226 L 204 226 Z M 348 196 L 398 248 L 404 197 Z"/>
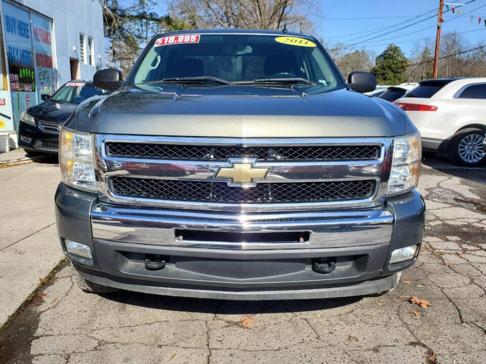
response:
<path id="1" fill-rule="evenodd" d="M 419 183 L 422 143 L 419 132 L 395 138 L 387 195 L 408 192 Z"/>

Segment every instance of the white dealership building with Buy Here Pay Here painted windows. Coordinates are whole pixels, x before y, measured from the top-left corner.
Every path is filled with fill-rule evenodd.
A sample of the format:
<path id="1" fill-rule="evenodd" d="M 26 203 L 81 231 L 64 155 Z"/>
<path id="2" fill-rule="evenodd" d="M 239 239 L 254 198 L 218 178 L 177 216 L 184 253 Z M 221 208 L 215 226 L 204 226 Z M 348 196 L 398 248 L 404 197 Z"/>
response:
<path id="1" fill-rule="evenodd" d="M 0 136 L 16 147 L 20 113 L 105 66 L 101 0 L 0 0 Z"/>

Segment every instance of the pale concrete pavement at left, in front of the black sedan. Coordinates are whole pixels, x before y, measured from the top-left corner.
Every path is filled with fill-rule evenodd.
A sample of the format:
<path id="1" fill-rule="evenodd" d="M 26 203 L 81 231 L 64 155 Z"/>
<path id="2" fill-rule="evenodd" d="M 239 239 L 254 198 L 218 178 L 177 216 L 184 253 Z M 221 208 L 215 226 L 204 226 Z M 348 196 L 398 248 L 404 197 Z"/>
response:
<path id="1" fill-rule="evenodd" d="M 25 157 L 18 150 L 0 156 Z M 0 326 L 63 257 L 54 219 L 61 176 L 57 159 L 47 161 L 0 168 Z"/>

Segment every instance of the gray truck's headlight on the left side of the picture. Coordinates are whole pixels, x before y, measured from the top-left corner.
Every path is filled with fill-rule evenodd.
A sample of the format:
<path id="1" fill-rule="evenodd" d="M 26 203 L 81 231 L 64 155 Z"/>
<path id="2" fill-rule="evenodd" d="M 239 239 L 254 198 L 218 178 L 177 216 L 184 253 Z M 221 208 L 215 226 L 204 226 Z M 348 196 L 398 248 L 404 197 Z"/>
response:
<path id="1" fill-rule="evenodd" d="M 72 187 L 96 191 L 91 135 L 62 128 L 59 141 L 62 181 Z"/>

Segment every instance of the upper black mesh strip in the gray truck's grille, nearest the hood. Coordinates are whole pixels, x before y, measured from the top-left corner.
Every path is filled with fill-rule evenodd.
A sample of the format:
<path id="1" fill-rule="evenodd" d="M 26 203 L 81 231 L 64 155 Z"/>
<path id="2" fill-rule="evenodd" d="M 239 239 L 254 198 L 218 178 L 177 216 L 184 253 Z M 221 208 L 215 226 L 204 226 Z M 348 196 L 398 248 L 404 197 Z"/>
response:
<path id="1" fill-rule="evenodd" d="M 106 143 L 107 154 L 121 157 L 226 160 L 228 157 L 256 157 L 260 160 L 374 159 L 376 145 L 261 146 L 185 145 L 152 143 Z"/>

